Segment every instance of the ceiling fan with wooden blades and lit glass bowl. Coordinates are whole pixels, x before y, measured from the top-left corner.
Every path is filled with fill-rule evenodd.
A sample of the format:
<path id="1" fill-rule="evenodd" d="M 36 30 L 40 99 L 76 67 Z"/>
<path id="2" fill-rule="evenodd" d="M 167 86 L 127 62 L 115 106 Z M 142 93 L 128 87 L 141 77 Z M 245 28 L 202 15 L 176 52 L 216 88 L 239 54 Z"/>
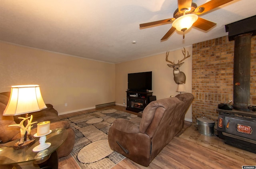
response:
<path id="1" fill-rule="evenodd" d="M 173 13 L 173 18 L 140 24 L 140 28 L 172 22 L 172 28 L 162 37 L 161 40 L 165 40 L 170 37 L 176 29 L 178 31 L 183 31 L 184 39 L 184 32 L 191 26 L 207 31 L 216 25 L 214 22 L 198 17 L 198 15 L 231 1 L 233 0 L 210 0 L 205 4 L 197 6 L 196 3 L 192 2 L 192 0 L 178 0 L 178 8 Z"/>

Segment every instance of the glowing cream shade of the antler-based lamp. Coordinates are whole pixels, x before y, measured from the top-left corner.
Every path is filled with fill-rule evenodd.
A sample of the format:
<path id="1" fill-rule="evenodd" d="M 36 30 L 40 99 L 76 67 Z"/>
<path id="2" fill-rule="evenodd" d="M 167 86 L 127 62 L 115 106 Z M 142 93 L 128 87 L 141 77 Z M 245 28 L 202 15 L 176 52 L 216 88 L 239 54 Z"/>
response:
<path id="1" fill-rule="evenodd" d="M 39 85 L 19 85 L 11 87 L 9 102 L 3 115 L 18 115 L 36 112 L 46 108 Z"/>

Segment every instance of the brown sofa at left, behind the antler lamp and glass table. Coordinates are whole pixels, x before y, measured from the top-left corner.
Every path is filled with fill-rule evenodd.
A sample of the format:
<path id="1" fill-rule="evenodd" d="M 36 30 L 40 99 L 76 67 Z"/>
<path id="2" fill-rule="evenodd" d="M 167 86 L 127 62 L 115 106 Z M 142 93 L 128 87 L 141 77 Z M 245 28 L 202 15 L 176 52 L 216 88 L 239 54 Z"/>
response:
<path id="1" fill-rule="evenodd" d="M 8 104 L 10 97 L 10 92 L 2 92 L 0 93 L 0 140 L 3 143 L 7 141 L 17 140 L 20 138 L 20 128 L 18 127 L 9 127 L 11 124 L 19 124 L 20 119 L 18 117 L 25 117 L 25 114 L 18 115 L 18 116 L 3 116 L 4 109 Z M 70 123 L 67 121 L 60 121 L 58 118 L 58 112 L 53 108 L 51 104 L 46 104 L 47 108 L 38 111 L 29 113 L 28 116 L 33 115 L 32 122 L 43 122 L 43 121 L 50 121 L 50 129 L 56 128 L 66 128 L 68 131 L 68 137 L 62 143 L 60 147 L 57 149 L 58 157 L 64 157 L 70 154 L 74 147 L 75 142 L 75 134 L 74 130 L 70 128 Z M 31 129 L 31 134 L 34 135 L 37 132 L 36 129 L 37 123 L 33 124 Z"/>

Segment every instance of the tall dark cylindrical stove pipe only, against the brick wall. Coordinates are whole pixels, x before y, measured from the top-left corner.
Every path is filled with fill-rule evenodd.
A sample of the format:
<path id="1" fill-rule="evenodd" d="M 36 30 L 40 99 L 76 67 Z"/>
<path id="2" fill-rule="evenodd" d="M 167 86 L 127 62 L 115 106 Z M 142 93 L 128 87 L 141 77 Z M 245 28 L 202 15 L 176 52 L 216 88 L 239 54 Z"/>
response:
<path id="1" fill-rule="evenodd" d="M 250 59 L 252 33 L 234 37 L 233 108 L 250 111 Z"/>

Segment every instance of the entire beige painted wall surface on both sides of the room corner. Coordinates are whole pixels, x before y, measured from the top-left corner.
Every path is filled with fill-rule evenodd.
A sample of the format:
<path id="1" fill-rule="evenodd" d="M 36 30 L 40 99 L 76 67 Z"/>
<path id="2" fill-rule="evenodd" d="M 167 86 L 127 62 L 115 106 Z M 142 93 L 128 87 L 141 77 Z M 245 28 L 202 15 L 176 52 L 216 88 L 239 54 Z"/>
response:
<path id="1" fill-rule="evenodd" d="M 192 47 L 186 50 L 192 55 Z M 40 85 L 44 101 L 53 104 L 60 114 L 114 101 L 126 106 L 127 74 L 152 71 L 153 95 L 167 98 L 178 93 L 173 69 L 167 66 L 165 57 L 162 53 L 115 65 L 0 43 L 0 92 L 10 91 L 12 85 Z M 182 49 L 169 53 L 169 59 L 176 63 L 182 58 Z M 180 70 L 186 74 L 186 91 L 191 92 L 192 57 L 184 62 Z M 191 108 L 185 119 L 192 121 Z"/>

